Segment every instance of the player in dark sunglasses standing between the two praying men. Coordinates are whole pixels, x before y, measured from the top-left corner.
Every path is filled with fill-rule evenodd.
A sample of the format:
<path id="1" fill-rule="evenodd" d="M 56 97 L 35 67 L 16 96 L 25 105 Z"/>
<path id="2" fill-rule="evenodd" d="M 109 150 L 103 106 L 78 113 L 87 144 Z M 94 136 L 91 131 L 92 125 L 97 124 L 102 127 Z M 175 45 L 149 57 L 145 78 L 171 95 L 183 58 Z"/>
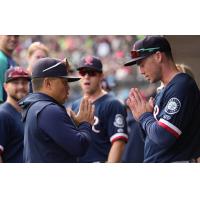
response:
<path id="1" fill-rule="evenodd" d="M 82 58 L 77 70 L 81 77 L 83 97 L 89 98 L 95 106 L 92 143 L 79 162 L 120 162 L 128 139 L 125 106 L 102 89 L 103 71 L 99 58 Z M 80 101 L 72 104 L 75 113 L 78 112 Z M 74 113 L 71 114 L 73 117 Z"/>

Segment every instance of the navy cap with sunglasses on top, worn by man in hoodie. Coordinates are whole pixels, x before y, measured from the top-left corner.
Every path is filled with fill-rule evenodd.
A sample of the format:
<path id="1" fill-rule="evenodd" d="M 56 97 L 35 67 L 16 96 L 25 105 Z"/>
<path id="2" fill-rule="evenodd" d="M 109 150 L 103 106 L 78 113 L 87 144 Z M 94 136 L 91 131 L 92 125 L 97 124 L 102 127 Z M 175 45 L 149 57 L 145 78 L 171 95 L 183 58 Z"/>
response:
<path id="1" fill-rule="evenodd" d="M 61 77 L 66 78 L 68 82 L 80 80 L 78 77 L 68 76 L 69 68 L 67 59 L 41 58 L 33 65 L 31 78 Z"/>

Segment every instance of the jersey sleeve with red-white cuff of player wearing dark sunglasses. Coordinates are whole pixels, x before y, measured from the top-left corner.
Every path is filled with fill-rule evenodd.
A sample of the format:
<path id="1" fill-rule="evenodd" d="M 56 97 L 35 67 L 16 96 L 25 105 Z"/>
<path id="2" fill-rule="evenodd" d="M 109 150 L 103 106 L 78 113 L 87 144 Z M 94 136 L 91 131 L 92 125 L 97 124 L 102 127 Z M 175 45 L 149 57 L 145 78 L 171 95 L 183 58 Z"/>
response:
<path id="1" fill-rule="evenodd" d="M 109 104 L 107 109 L 107 117 L 104 119 L 107 124 L 107 133 L 110 137 L 110 142 L 124 140 L 127 142 L 127 112 L 126 108 L 119 101 L 115 100 Z"/>

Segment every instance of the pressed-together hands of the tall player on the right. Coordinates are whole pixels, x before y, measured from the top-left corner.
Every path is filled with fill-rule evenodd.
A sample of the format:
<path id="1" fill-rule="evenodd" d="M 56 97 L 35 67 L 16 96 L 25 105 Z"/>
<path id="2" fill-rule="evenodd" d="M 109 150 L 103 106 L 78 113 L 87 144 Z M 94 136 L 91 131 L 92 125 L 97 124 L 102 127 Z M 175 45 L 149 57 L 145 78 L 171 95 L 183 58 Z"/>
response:
<path id="1" fill-rule="evenodd" d="M 131 109 L 135 120 L 138 121 L 143 113 L 153 112 L 154 100 L 153 98 L 150 98 L 149 102 L 147 102 L 137 88 L 132 88 L 129 92 L 126 104 Z"/>

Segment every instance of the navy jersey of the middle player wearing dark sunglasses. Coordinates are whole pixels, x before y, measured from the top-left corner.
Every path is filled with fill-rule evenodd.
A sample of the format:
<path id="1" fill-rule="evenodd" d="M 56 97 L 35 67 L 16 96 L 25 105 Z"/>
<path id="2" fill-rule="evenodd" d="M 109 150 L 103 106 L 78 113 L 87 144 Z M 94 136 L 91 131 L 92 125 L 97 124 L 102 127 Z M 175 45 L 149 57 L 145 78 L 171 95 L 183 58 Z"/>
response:
<path id="1" fill-rule="evenodd" d="M 78 112 L 81 99 L 72 104 L 72 110 Z M 106 94 L 94 103 L 95 123 L 92 127 L 92 144 L 79 162 L 107 161 L 111 144 L 116 140 L 127 141 L 126 109 L 111 94 Z"/>

